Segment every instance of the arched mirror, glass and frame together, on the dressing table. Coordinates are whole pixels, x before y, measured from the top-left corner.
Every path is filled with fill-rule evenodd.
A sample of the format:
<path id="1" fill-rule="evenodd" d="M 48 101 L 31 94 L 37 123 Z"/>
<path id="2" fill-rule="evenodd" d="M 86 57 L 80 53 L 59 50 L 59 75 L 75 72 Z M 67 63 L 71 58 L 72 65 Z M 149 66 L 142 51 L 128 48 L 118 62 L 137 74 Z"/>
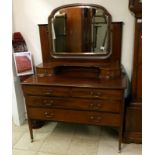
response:
<path id="1" fill-rule="evenodd" d="M 65 5 L 48 18 L 49 43 L 54 57 L 111 54 L 111 15 L 99 5 Z"/>

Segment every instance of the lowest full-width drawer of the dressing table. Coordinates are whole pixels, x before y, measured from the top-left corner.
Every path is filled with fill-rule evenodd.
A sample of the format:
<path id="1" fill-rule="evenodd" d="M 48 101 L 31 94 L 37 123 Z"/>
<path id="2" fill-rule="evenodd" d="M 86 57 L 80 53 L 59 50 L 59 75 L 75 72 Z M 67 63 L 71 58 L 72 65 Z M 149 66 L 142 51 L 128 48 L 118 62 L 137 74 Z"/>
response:
<path id="1" fill-rule="evenodd" d="M 120 126 L 120 115 L 106 112 L 74 111 L 47 108 L 29 108 L 30 119 Z"/>

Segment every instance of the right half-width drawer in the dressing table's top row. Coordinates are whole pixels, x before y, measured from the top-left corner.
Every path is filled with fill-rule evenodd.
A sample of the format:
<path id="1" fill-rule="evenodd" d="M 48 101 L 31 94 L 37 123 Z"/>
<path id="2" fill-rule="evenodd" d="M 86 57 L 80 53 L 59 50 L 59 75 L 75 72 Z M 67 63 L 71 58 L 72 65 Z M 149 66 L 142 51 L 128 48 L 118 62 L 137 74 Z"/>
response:
<path id="1" fill-rule="evenodd" d="M 73 88 L 72 97 L 122 99 L 121 90 Z"/>

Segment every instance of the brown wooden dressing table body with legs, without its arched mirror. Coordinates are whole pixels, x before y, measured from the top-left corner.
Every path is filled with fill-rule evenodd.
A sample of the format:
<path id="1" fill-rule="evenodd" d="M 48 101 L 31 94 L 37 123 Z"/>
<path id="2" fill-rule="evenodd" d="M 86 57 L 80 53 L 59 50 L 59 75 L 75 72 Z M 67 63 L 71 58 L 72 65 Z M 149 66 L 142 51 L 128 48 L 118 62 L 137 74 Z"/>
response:
<path id="1" fill-rule="evenodd" d="M 113 22 L 110 26 L 112 54 L 107 59 L 94 56 L 53 57 L 50 52 L 48 26 L 39 25 L 43 63 L 36 66 L 35 75 L 21 83 L 31 140 L 33 141 L 33 120 L 106 125 L 118 128 L 120 151 L 124 91 L 127 87 L 127 75 L 122 71 L 121 65 L 123 23 Z M 85 31 L 85 28 L 80 31 Z"/>

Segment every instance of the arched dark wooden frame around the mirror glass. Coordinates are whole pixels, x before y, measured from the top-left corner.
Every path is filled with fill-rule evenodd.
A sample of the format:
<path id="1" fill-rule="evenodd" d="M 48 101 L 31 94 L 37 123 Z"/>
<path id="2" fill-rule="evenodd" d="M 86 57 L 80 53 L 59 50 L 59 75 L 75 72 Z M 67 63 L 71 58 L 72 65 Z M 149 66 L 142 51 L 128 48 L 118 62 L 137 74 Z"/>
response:
<path id="1" fill-rule="evenodd" d="M 101 9 L 104 11 L 105 15 L 108 16 L 109 20 L 108 20 L 108 26 L 107 26 L 107 29 L 108 29 L 108 49 L 109 51 L 107 52 L 107 54 L 97 54 L 97 53 L 77 53 L 77 54 L 70 54 L 70 53 L 67 53 L 67 52 L 64 52 L 64 53 L 56 53 L 53 51 L 53 37 L 52 37 L 52 30 L 51 30 L 51 27 L 52 27 L 52 24 L 51 24 L 51 18 L 54 17 L 55 13 L 58 11 L 58 10 L 61 10 L 61 9 L 65 9 L 65 8 L 70 8 L 70 7 L 93 7 L 93 8 L 98 8 L 98 9 Z M 106 59 L 106 58 L 109 58 L 110 55 L 112 54 L 112 38 L 111 38 L 111 15 L 110 13 L 102 6 L 100 5 L 96 5 L 96 4 L 81 4 L 81 3 L 77 3 L 77 4 L 68 4 L 68 5 L 63 5 L 63 6 L 60 6 L 60 7 L 57 7 L 55 8 L 51 14 L 49 15 L 48 17 L 48 31 L 49 31 L 49 45 L 50 45 L 50 54 L 53 58 L 99 58 L 99 59 Z"/>

